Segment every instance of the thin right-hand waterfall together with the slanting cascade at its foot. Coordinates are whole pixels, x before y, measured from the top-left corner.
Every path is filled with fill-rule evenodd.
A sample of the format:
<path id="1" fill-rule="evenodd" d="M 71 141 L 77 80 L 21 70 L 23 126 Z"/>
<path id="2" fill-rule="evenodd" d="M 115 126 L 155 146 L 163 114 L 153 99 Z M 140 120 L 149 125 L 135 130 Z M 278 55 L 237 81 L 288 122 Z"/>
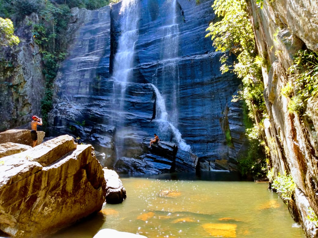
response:
<path id="1" fill-rule="evenodd" d="M 162 62 L 162 90 L 170 89 L 167 91 L 167 101 L 169 102 L 169 111 L 166 110 L 165 101 L 154 85 L 157 84 L 156 76 L 153 78 L 153 84 L 151 86 L 156 92 L 156 111 L 160 118 L 156 118 L 159 121 L 160 133 L 164 136 L 169 134 L 169 129 L 171 129 L 173 140 L 178 144 L 180 149 L 190 151 L 190 145 L 182 139 L 181 133 L 177 129 L 178 127 L 178 102 L 179 97 L 179 68 L 178 68 L 178 50 L 179 50 L 179 25 L 176 23 L 176 0 L 166 1 L 165 10 L 167 11 L 167 22 L 166 25 L 162 27 L 163 37 L 162 37 L 162 50 L 160 55 L 160 61 Z M 172 88 L 169 84 L 172 83 Z"/>

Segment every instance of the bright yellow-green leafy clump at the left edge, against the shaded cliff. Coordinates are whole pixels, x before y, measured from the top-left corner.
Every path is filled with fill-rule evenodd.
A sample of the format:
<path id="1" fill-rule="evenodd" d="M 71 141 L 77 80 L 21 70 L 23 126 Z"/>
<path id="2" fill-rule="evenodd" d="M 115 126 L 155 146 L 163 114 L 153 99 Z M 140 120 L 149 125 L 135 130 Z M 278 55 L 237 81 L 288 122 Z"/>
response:
<path id="1" fill-rule="evenodd" d="M 0 46 L 13 46 L 20 43 L 19 38 L 14 36 L 13 33 L 12 21 L 0 17 Z"/>

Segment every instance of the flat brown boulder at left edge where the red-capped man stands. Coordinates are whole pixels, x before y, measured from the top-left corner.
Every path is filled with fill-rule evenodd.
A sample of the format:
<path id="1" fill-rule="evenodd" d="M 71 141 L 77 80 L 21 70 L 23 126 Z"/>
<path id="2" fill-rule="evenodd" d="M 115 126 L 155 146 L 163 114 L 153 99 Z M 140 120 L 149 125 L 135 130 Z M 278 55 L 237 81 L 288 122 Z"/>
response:
<path id="1" fill-rule="evenodd" d="M 33 142 L 32 142 L 30 132 L 31 130 L 18 130 L 18 129 L 3 131 L 0 133 L 0 143 L 13 142 L 13 143 L 32 146 Z M 43 141 L 45 132 L 37 131 L 37 133 L 38 133 L 37 145 L 39 145 Z"/>

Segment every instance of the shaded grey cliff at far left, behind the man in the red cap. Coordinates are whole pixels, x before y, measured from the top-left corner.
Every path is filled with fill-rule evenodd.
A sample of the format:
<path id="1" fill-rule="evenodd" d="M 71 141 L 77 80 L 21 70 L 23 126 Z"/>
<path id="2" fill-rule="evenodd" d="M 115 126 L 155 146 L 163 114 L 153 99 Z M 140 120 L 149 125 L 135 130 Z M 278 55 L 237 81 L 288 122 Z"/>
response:
<path id="1" fill-rule="evenodd" d="M 0 131 L 20 126 L 39 115 L 45 94 L 42 54 L 34 42 L 29 22 L 38 23 L 36 14 L 26 17 L 15 35 L 20 43 L 0 51 Z"/>

